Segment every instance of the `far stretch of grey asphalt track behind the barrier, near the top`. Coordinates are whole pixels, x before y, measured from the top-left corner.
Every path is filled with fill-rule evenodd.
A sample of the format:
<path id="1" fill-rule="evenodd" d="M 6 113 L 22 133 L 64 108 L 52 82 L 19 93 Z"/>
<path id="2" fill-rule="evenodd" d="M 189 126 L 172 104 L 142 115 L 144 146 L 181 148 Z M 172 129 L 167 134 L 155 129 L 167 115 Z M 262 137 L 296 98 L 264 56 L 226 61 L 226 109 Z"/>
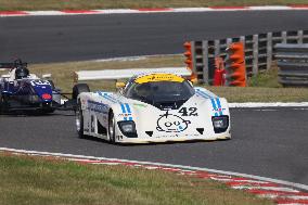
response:
<path id="1" fill-rule="evenodd" d="M 308 11 L 0 17 L 0 61 L 30 63 L 182 53 L 185 40 L 308 29 Z"/>

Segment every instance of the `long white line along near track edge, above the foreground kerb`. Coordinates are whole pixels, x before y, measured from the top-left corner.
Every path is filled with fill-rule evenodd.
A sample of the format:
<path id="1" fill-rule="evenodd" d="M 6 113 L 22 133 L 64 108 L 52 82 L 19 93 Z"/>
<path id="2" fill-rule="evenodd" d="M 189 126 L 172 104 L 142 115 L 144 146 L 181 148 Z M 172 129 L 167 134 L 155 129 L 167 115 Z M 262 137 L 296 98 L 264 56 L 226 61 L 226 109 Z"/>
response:
<path id="1" fill-rule="evenodd" d="M 238 176 L 244 178 L 256 179 L 260 181 L 269 181 L 273 183 L 279 183 L 287 187 L 293 187 L 301 190 L 308 191 L 308 185 L 301 183 L 290 182 L 285 180 L 272 179 L 268 177 L 260 177 L 241 172 L 233 172 L 233 171 L 223 171 L 218 169 L 208 169 L 202 167 L 192 167 L 192 166 L 183 166 L 183 165 L 172 165 L 172 164 L 164 164 L 164 163 L 151 163 L 151 162 L 139 162 L 139 161 L 129 161 L 129 159 L 118 159 L 118 158 L 106 158 L 106 157 L 95 157 L 95 156 L 85 156 L 85 155 L 74 155 L 74 154 L 63 154 L 63 153 L 51 153 L 51 152 L 39 152 L 39 151 L 27 151 L 27 150 L 16 150 L 16 149 L 9 149 L 9 148 L 0 148 L 0 151 L 7 152 L 16 152 L 16 153 L 24 153 L 24 154 L 39 154 L 46 156 L 61 156 L 61 157 L 70 157 L 70 158 L 84 158 L 84 159 L 98 159 L 98 161 L 118 161 L 124 163 L 137 163 L 140 165 L 152 165 L 152 166 L 163 166 L 163 167 L 172 167 L 176 169 L 190 169 L 190 170 L 200 170 L 200 171 L 208 171 L 221 175 L 230 175 L 230 176 Z"/>

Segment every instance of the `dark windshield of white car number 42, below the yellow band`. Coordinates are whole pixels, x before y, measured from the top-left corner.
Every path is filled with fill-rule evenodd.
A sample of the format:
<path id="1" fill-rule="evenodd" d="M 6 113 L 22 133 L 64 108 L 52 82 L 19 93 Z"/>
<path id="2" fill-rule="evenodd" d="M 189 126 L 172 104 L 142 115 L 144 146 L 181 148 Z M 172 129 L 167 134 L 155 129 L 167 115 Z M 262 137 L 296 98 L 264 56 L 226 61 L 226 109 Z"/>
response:
<path id="1" fill-rule="evenodd" d="M 149 104 L 163 102 L 187 101 L 194 94 L 194 89 L 187 80 L 179 81 L 150 81 L 130 84 L 125 95 Z"/>

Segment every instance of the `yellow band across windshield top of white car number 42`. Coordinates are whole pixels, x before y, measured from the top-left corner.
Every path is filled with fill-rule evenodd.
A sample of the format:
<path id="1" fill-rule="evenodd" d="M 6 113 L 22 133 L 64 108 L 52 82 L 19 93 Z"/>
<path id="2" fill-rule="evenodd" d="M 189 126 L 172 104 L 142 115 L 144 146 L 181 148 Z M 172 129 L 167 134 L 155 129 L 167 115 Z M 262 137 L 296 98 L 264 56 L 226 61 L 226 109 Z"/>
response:
<path id="1" fill-rule="evenodd" d="M 145 84 L 145 82 L 152 82 L 152 81 L 182 82 L 184 81 L 184 78 L 174 75 L 174 74 L 151 74 L 151 75 L 139 77 L 134 81 L 137 84 Z"/>

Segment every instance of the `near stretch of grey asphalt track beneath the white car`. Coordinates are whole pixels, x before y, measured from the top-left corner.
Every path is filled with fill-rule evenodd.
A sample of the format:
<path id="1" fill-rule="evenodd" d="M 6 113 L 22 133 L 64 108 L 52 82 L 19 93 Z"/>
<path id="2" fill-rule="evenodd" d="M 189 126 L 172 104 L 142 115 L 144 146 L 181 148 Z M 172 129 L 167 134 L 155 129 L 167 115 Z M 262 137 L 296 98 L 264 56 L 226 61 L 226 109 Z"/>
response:
<path id="1" fill-rule="evenodd" d="M 308 108 L 232 108 L 232 140 L 113 145 L 79 139 L 70 112 L 0 116 L 0 146 L 206 167 L 308 184 Z"/>

